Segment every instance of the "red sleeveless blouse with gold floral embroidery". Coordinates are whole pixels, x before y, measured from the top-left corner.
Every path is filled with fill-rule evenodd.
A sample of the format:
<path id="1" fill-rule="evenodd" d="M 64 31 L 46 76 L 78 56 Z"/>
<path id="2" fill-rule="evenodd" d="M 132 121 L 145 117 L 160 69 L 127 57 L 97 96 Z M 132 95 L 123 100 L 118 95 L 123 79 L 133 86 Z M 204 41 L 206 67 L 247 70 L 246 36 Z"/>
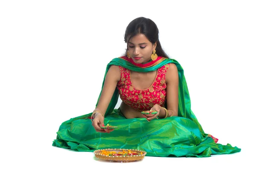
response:
<path id="1" fill-rule="evenodd" d="M 163 106 L 166 101 L 165 76 L 169 65 L 158 68 L 153 84 L 144 90 L 135 88 L 131 82 L 130 70 L 119 66 L 121 79 L 117 83 L 117 88 L 122 101 L 137 111 L 148 111 L 155 104 Z"/>

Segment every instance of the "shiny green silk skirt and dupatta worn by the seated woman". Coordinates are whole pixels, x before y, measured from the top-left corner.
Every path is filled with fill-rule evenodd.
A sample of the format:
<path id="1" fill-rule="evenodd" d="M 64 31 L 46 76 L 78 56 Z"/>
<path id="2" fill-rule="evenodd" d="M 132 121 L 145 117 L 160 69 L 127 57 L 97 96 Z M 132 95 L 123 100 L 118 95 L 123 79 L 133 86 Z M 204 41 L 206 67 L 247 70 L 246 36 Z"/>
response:
<path id="1" fill-rule="evenodd" d="M 109 123 L 111 126 L 117 126 L 116 130 L 111 133 L 96 132 L 91 125 L 91 120 L 88 119 L 92 113 L 88 113 L 63 122 L 52 145 L 86 152 L 105 148 L 138 149 L 146 151 L 146 156 L 162 157 L 209 157 L 211 154 L 240 152 L 240 148 L 232 147 L 230 144 L 216 144 L 211 137 L 208 137 L 207 133 L 204 133 L 191 111 L 189 91 L 183 68 L 175 59 L 166 58 L 152 67 L 139 68 L 122 58 L 115 58 L 107 65 L 105 77 L 111 65 L 120 65 L 131 71 L 149 72 L 168 63 L 174 63 L 178 69 L 178 116 L 153 119 L 151 122 L 145 118 L 126 119 L 120 109 L 114 109 L 119 97 L 116 88 L 104 120 L 105 125 Z"/>

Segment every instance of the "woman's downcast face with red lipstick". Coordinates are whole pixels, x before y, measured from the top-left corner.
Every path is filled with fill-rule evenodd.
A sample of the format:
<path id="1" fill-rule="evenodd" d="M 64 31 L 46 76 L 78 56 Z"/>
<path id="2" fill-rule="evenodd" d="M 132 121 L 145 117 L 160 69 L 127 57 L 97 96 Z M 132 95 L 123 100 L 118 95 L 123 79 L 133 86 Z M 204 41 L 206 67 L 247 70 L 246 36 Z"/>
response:
<path id="1" fill-rule="evenodd" d="M 144 34 L 137 34 L 128 42 L 128 53 L 135 63 L 146 63 L 156 47 L 157 42 L 152 44 Z"/>

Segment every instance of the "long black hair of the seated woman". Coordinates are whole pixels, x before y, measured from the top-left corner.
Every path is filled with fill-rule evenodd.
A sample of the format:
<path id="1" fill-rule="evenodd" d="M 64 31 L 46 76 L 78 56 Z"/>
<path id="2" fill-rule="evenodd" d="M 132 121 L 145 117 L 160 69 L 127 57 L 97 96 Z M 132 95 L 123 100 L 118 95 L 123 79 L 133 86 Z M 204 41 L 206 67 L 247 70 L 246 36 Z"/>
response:
<path id="1" fill-rule="evenodd" d="M 167 54 L 163 51 L 163 48 L 159 42 L 159 31 L 157 25 L 152 20 L 145 17 L 138 17 L 132 20 L 125 31 L 125 42 L 129 42 L 131 37 L 134 37 L 137 34 L 144 34 L 152 44 L 157 42 L 156 54 L 158 56 L 169 58 Z M 127 51 L 128 43 L 125 56 L 127 56 Z"/>

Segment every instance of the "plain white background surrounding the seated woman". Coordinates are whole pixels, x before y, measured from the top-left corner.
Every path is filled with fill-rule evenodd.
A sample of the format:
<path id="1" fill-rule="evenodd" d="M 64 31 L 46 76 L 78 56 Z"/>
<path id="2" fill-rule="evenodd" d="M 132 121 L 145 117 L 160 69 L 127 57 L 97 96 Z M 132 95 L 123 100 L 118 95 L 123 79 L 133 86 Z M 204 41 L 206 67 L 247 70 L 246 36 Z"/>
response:
<path id="1" fill-rule="evenodd" d="M 115 165 L 255 167 L 255 9 L 253 0 L 0 1 L 1 169 L 112 167 L 51 145 L 62 122 L 93 111 L 106 65 L 125 52 L 125 28 L 137 17 L 157 24 L 182 65 L 205 133 L 241 152 Z"/>

